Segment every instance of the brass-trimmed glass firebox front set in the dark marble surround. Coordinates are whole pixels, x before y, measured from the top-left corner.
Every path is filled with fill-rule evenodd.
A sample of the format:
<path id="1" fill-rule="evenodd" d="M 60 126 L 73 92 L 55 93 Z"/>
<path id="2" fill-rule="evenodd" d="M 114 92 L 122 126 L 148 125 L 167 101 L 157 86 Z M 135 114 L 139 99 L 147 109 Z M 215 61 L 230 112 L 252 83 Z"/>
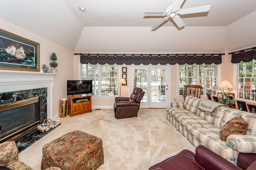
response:
<path id="1" fill-rule="evenodd" d="M 38 97 L 0 105 L 0 143 L 39 124 Z"/>

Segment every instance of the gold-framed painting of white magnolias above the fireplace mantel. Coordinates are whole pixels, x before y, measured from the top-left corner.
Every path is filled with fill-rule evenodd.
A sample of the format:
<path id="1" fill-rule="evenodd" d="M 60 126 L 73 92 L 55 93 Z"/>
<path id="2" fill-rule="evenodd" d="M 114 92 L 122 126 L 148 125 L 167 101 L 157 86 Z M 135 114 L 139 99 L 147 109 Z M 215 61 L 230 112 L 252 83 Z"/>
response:
<path id="1" fill-rule="evenodd" d="M 0 29 L 0 69 L 40 70 L 40 44 Z"/>

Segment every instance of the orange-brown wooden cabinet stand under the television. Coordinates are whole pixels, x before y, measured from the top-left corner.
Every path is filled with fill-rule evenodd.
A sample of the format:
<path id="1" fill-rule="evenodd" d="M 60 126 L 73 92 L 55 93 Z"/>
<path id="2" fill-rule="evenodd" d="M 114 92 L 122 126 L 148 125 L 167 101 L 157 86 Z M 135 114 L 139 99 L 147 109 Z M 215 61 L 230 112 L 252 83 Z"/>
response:
<path id="1" fill-rule="evenodd" d="M 68 114 L 70 117 L 92 112 L 92 96 L 68 96 Z"/>

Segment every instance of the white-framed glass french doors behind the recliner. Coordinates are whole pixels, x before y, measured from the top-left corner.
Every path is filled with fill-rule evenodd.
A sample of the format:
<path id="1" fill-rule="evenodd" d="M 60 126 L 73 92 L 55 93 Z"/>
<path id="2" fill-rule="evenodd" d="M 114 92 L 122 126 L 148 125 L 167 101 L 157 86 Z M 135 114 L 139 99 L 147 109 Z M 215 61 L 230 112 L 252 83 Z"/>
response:
<path id="1" fill-rule="evenodd" d="M 166 76 L 168 74 L 168 76 Z M 132 65 L 130 67 L 130 92 L 140 87 L 145 92 L 140 107 L 165 108 L 169 104 L 169 66 Z"/>

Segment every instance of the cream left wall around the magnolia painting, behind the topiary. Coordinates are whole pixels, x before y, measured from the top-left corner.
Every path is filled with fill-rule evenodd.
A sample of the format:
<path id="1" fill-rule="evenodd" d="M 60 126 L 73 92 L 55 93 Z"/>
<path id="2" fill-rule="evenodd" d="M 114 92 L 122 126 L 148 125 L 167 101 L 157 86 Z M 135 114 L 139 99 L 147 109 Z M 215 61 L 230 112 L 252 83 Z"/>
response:
<path id="1" fill-rule="evenodd" d="M 50 68 L 50 55 L 52 52 L 55 52 L 58 60 L 58 74 L 54 78 L 54 86 L 55 89 L 53 90 L 53 117 L 58 117 L 60 111 L 58 109 L 58 105 L 60 105 L 60 99 L 66 98 L 66 80 L 73 79 L 74 76 L 74 69 L 73 69 L 73 51 L 65 49 L 60 45 L 48 41 L 43 37 L 35 35 L 21 27 L 18 27 L 8 21 L 2 20 L 0 18 L 1 29 L 24 37 L 26 39 L 30 39 L 37 43 L 40 43 L 40 70 L 42 69 L 42 65 L 46 64 Z"/>

